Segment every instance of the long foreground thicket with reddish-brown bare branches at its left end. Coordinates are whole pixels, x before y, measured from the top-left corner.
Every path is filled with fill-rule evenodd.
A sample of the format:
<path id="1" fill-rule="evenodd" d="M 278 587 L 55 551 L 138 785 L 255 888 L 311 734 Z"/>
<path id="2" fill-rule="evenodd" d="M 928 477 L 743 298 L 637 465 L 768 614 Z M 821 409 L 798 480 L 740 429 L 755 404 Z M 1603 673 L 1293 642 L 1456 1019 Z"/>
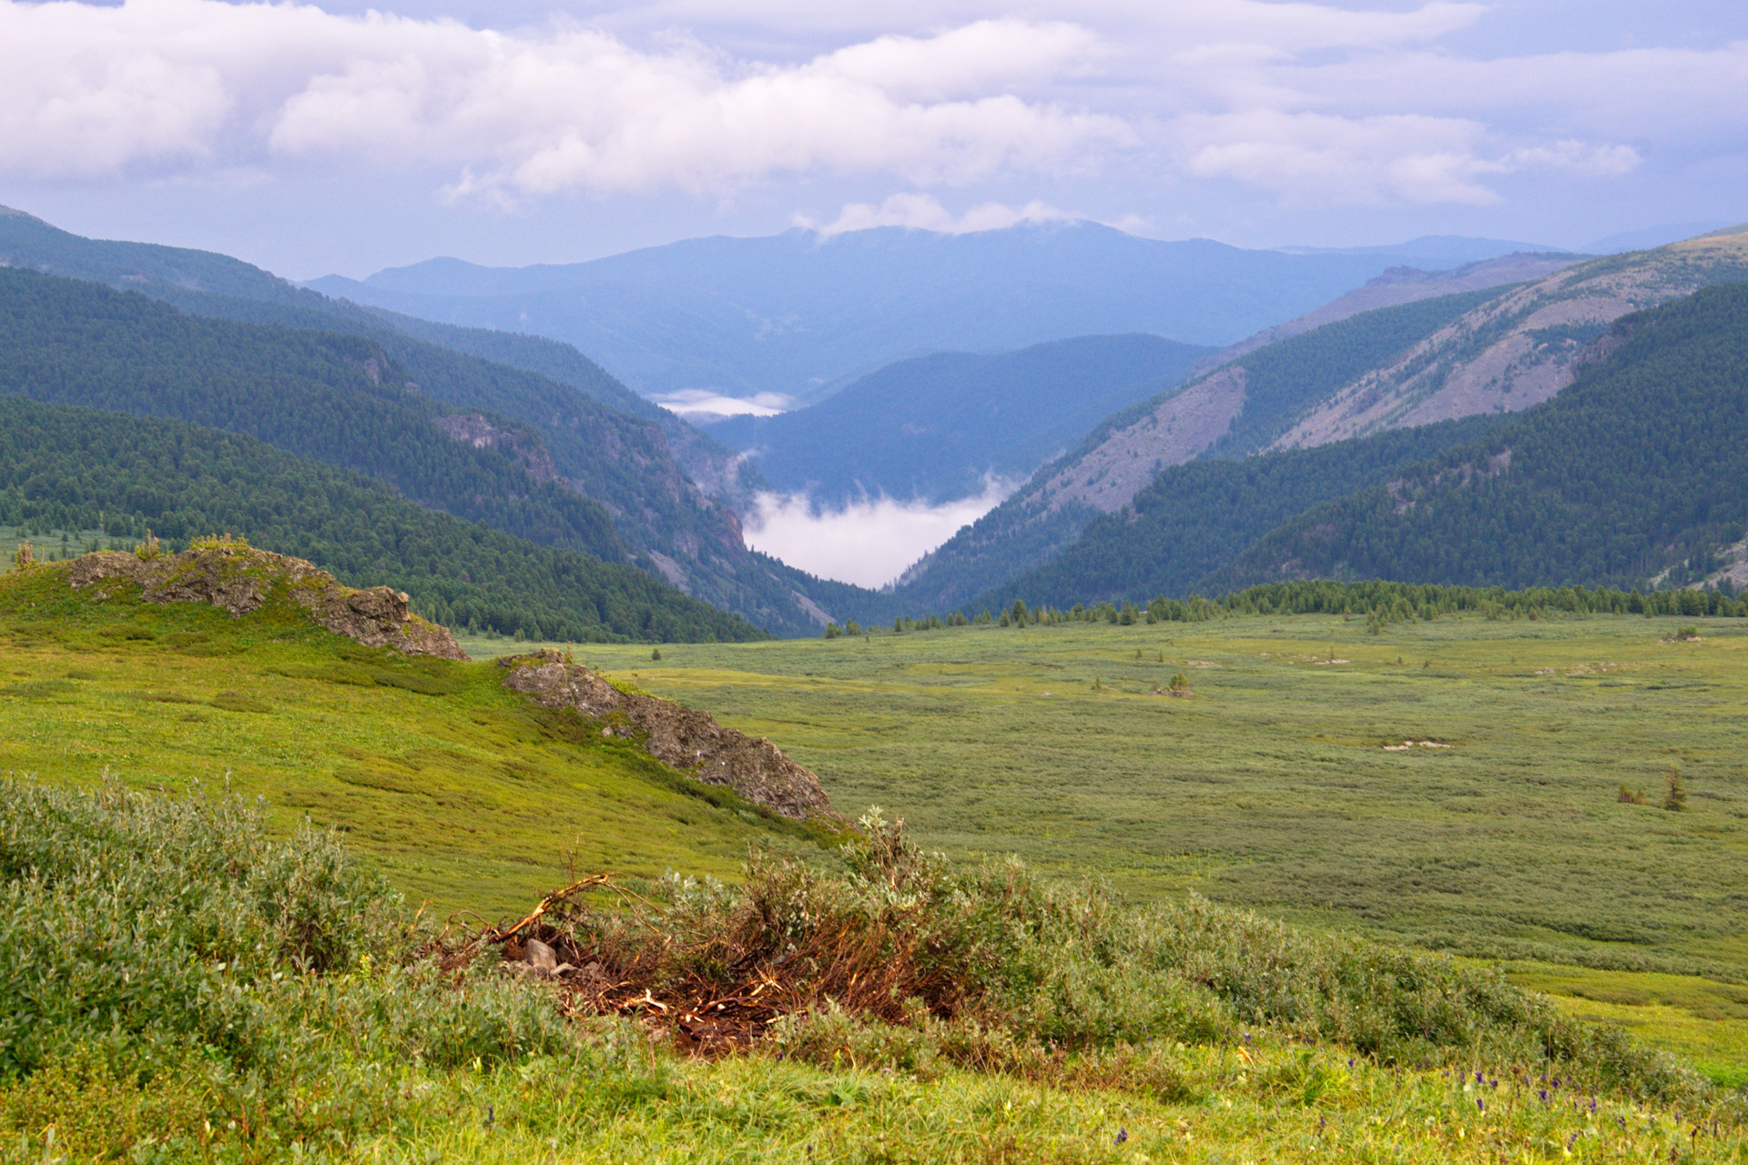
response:
<path id="1" fill-rule="evenodd" d="M 1619 1031 L 1449 957 L 1308 934 L 1201 898 L 1126 905 L 1094 884 L 1040 882 L 1017 859 L 956 868 L 877 810 L 844 859 L 848 877 L 755 858 L 741 887 L 669 882 L 659 919 L 559 901 L 540 936 L 565 961 L 600 966 L 596 987 L 573 997 L 582 1006 L 654 999 L 669 1017 L 769 1029 L 795 1051 L 1000 1060 L 1024 1057 L 989 1051 L 998 1044 L 1096 1051 L 1259 1025 L 1395 1064 L 1484 1057 L 1645 1097 L 1708 1088 Z M 912 1034 L 857 1034 L 853 1020 Z"/>

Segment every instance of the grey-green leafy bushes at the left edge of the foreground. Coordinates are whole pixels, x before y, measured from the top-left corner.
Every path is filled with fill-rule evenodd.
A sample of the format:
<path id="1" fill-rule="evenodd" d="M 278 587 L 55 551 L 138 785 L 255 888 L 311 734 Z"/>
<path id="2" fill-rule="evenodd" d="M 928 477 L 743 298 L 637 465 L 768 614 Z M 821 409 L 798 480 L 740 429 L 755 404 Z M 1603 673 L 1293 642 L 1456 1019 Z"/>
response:
<path id="1" fill-rule="evenodd" d="M 7 781 L 0 877 L 0 1081 L 80 1046 L 271 1083 L 330 1053 L 489 1062 L 565 1036 L 502 976 L 440 982 L 336 833 L 271 840 L 238 798 Z"/>

